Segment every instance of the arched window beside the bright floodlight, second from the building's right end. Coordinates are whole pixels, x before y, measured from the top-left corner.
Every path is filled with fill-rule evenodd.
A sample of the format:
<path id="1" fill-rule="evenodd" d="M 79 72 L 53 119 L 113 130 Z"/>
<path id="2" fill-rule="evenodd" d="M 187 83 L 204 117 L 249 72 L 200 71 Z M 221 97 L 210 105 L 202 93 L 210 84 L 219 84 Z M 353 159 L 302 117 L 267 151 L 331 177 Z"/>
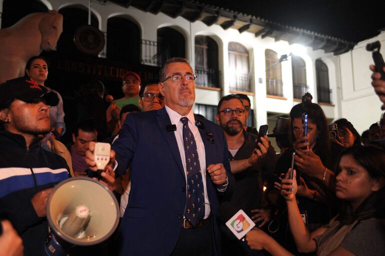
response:
<path id="1" fill-rule="evenodd" d="M 307 91 L 305 61 L 301 57 L 291 55 L 291 69 L 293 76 L 293 97 L 302 98 Z"/>

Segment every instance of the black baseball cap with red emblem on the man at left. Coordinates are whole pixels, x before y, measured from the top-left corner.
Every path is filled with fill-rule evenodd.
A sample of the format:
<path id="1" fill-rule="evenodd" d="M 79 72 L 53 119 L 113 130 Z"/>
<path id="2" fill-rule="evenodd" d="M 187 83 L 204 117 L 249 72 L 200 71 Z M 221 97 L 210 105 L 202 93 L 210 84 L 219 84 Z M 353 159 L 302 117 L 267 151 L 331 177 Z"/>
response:
<path id="1" fill-rule="evenodd" d="M 59 98 L 55 92 L 48 91 L 46 87 L 39 85 L 28 76 L 7 80 L 0 84 L 0 107 L 14 99 L 27 103 L 42 99 L 49 106 L 55 106 L 59 103 Z"/>

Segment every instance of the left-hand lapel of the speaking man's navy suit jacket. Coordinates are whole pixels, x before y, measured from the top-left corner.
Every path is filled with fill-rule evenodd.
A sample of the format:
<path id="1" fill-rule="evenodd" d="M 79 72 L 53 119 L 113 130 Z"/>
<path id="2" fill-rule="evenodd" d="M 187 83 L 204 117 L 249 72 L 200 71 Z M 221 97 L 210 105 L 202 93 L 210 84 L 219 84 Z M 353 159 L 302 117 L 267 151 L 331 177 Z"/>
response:
<path id="1" fill-rule="evenodd" d="M 156 120 L 158 122 L 159 128 L 164 136 L 164 138 L 167 141 L 167 144 L 175 158 L 175 161 L 179 167 L 179 170 L 183 174 L 183 177 L 185 176 L 184 174 L 184 169 L 182 165 L 182 160 L 180 159 L 180 152 L 178 148 L 178 144 L 176 143 L 176 138 L 173 130 L 167 131 L 166 126 L 171 124 L 171 120 L 168 117 L 167 111 L 165 107 L 159 109 L 156 113 Z M 162 150 L 162 149 L 160 149 Z"/>

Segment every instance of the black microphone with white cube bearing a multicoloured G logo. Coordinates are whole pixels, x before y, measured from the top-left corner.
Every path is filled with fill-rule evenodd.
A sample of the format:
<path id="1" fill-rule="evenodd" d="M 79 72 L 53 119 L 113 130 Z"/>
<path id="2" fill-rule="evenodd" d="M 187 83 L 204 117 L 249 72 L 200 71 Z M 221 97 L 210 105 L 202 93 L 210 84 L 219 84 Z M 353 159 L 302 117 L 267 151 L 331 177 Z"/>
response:
<path id="1" fill-rule="evenodd" d="M 226 221 L 226 226 L 238 238 L 244 241 L 244 236 L 250 231 L 255 223 L 242 210 L 237 210 L 229 202 L 223 202 L 219 206 L 219 214 Z"/>

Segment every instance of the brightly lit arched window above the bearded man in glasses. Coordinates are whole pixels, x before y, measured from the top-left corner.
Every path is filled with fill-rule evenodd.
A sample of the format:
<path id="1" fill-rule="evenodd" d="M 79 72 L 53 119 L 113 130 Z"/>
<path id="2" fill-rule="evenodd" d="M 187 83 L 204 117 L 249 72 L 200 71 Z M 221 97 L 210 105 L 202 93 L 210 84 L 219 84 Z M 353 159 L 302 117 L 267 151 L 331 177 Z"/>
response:
<path id="1" fill-rule="evenodd" d="M 248 69 L 248 50 L 237 42 L 228 43 L 230 89 L 251 91 Z"/>

